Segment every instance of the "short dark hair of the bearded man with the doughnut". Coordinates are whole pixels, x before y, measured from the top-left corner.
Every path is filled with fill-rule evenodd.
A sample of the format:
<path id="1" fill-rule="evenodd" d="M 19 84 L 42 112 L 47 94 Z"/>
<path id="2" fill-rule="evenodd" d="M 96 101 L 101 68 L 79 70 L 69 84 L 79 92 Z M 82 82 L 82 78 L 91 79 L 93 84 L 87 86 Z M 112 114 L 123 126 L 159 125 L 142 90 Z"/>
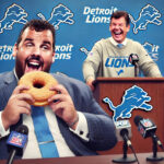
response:
<path id="1" fill-rule="evenodd" d="M 42 31 L 45 31 L 45 30 L 49 30 L 52 34 L 52 39 L 54 39 L 52 40 L 52 49 L 55 50 L 55 42 L 56 42 L 55 40 L 55 27 L 48 21 L 45 21 L 45 20 L 31 20 L 30 22 L 27 22 L 20 32 L 20 35 L 19 35 L 17 40 L 16 40 L 17 46 L 19 46 L 19 44 L 22 39 L 23 32 L 27 27 L 30 27 L 32 30 L 35 30 L 36 32 L 42 32 Z"/>

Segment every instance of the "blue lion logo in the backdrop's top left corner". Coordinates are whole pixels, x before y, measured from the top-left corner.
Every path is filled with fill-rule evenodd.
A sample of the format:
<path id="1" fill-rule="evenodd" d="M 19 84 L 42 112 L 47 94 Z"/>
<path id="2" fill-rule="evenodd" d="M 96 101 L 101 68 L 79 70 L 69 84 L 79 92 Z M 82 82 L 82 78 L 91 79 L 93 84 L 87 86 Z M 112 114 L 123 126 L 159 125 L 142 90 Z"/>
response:
<path id="1" fill-rule="evenodd" d="M 12 30 L 14 23 L 25 24 L 27 20 L 25 17 L 27 13 L 23 8 L 13 3 L 9 7 L 4 13 L 4 17 L 0 21 L 0 33 L 3 33 L 4 30 Z"/>

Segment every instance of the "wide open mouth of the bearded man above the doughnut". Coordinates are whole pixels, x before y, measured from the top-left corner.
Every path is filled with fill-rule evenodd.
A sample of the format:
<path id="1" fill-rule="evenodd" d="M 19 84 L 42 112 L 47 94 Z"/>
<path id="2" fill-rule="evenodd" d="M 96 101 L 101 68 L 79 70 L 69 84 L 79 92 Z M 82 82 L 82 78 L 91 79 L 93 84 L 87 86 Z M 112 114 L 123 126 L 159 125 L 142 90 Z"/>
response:
<path id="1" fill-rule="evenodd" d="M 25 61 L 25 72 L 33 70 L 43 70 L 44 62 L 40 57 L 31 56 Z"/>

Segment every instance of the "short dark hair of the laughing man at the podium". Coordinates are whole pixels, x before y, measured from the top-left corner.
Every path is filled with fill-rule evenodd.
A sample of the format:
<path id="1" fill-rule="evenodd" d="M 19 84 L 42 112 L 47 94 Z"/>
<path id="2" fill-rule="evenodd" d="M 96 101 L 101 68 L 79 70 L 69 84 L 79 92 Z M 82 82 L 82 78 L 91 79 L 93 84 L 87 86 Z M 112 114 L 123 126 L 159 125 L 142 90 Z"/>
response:
<path id="1" fill-rule="evenodd" d="M 130 24 L 130 17 L 129 14 L 126 11 L 116 11 L 110 16 L 110 22 L 113 19 L 120 19 L 125 17 L 127 26 Z"/>

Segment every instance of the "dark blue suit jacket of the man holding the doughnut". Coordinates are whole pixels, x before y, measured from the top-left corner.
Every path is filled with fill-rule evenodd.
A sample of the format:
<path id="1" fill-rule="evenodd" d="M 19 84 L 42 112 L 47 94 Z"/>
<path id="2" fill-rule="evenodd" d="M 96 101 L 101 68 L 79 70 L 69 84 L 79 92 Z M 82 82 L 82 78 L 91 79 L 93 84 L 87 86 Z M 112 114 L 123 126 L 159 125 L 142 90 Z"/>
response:
<path id="1" fill-rule="evenodd" d="M 52 75 L 68 90 L 77 110 L 85 115 L 89 126 L 90 141 L 86 142 L 71 132 L 67 124 L 57 117 L 59 129 L 69 148 L 75 155 L 96 155 L 96 151 L 112 149 L 117 142 L 113 120 L 95 102 L 89 86 L 67 75 Z M 16 85 L 13 71 L 0 74 L 0 110 L 4 109 Z M 21 124 L 22 118 L 10 130 L 14 130 Z M 8 137 L 0 139 L 0 159 L 8 159 L 7 139 Z"/>

